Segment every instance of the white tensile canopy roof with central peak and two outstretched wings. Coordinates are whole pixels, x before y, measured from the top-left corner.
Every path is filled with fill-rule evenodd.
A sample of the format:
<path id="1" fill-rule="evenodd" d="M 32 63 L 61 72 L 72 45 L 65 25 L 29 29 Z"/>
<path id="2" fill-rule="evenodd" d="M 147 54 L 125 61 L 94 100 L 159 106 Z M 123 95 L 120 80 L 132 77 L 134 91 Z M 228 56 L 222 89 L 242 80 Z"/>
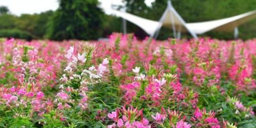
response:
<path id="1" fill-rule="evenodd" d="M 168 4 L 159 21 L 142 18 L 130 13 L 120 12 L 117 10 L 113 10 L 111 12 L 116 16 L 122 17 L 138 25 L 138 27 L 143 29 L 149 35 L 154 35 L 162 26 L 164 26 L 172 29 L 175 28 L 176 30 L 181 32 L 189 32 L 194 37 L 196 37 L 196 34 L 203 34 L 211 30 L 231 32 L 239 25 L 247 22 L 252 18 L 256 18 L 256 10 L 254 10 L 251 12 L 219 20 L 186 23 L 170 4 Z"/>

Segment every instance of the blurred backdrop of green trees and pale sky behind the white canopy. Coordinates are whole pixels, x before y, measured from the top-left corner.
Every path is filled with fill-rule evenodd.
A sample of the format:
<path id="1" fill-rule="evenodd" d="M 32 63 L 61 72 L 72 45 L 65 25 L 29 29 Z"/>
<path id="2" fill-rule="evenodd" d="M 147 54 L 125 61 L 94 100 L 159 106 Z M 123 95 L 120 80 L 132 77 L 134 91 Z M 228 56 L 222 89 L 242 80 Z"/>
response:
<path id="1" fill-rule="evenodd" d="M 256 9 L 255 0 L 173 0 L 174 8 L 186 22 L 226 18 Z M 97 40 L 123 32 L 123 20 L 110 15 L 110 8 L 152 20 L 159 20 L 167 0 L 0 0 L 0 37 L 26 40 Z M 127 21 L 127 33 L 139 39 L 148 35 Z M 256 19 L 239 27 L 239 38 L 256 37 Z M 162 28 L 159 40 L 172 37 Z M 233 33 L 208 32 L 200 37 L 233 39 Z M 190 38 L 183 34 L 182 38 Z"/>

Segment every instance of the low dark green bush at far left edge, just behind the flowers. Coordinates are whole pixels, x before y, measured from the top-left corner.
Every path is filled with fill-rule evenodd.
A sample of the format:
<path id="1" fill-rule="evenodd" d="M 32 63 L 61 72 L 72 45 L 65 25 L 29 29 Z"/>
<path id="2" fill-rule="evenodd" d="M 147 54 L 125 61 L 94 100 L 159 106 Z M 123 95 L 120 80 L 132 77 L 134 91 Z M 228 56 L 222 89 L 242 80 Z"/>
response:
<path id="1" fill-rule="evenodd" d="M 26 39 L 28 41 L 33 39 L 29 32 L 17 29 L 0 30 L 0 37 Z"/>

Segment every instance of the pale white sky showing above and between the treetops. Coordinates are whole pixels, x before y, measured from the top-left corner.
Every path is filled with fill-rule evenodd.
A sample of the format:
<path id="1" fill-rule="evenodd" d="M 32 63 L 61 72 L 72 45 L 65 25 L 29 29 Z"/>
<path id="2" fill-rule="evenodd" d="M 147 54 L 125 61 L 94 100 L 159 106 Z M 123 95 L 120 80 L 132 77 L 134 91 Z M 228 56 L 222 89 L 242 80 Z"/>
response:
<path id="1" fill-rule="evenodd" d="M 111 13 L 111 5 L 122 5 L 121 0 L 98 0 L 100 7 L 105 13 Z M 145 3 L 151 6 L 155 0 L 146 0 Z M 45 12 L 48 10 L 56 10 L 58 8 L 58 0 L 0 0 L 0 6 L 7 6 L 14 15 L 34 14 Z"/>

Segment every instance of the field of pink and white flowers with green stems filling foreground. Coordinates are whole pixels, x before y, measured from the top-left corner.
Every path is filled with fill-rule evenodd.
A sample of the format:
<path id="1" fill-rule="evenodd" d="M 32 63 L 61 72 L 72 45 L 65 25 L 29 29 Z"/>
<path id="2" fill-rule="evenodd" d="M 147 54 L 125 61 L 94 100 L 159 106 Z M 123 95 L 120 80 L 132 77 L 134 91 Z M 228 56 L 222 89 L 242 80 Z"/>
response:
<path id="1" fill-rule="evenodd" d="M 256 40 L 0 43 L 0 127 L 256 127 Z"/>

